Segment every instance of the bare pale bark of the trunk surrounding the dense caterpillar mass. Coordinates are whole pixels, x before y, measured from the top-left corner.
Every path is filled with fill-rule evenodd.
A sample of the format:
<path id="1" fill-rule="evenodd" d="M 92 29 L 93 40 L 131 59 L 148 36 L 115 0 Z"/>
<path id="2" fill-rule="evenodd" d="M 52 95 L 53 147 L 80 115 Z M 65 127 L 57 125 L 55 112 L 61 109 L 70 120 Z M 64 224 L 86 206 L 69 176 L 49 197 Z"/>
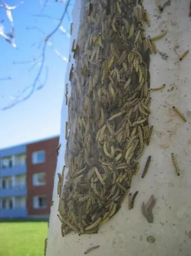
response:
<path id="1" fill-rule="evenodd" d="M 162 1 L 164 4 L 164 1 Z M 94 245 L 99 248 L 89 252 L 94 255 L 131 255 L 131 256 L 189 256 L 191 248 L 191 55 L 179 61 L 179 56 L 189 50 L 191 26 L 188 17 L 189 1 L 173 0 L 162 13 L 156 2 L 144 0 L 151 27 L 147 35 L 159 34 L 169 30 L 165 40 L 156 42 L 159 53 L 151 55 L 151 88 L 165 84 L 162 92 L 152 92 L 150 123 L 154 126 L 151 143 L 140 158 L 140 172 L 133 177 L 131 191 L 139 191 L 136 204 L 128 210 L 127 199 L 121 209 L 107 223 L 99 228 L 97 234 L 78 236 L 69 233 L 61 236 L 60 222 L 57 217 L 59 197 L 57 181 L 53 191 L 54 204 L 51 207 L 48 229 L 47 256 L 80 256 Z M 76 0 L 73 10 L 73 39 L 77 38 L 81 1 Z M 83 29 L 83 28 L 81 28 Z M 176 49 L 176 51 L 174 50 Z M 73 61 L 73 60 L 72 60 Z M 65 83 L 71 63 L 66 71 Z M 73 62 L 74 63 L 74 62 Z M 172 106 L 180 108 L 186 115 L 184 123 L 173 111 Z M 60 143 L 56 173 L 62 171 L 65 150 L 65 122 L 67 120 L 65 96 L 61 113 Z M 180 162 L 180 176 L 176 176 L 171 160 L 171 153 L 177 154 Z M 149 173 L 141 179 L 141 173 L 148 155 L 152 156 Z M 142 202 L 151 195 L 156 199 L 154 223 L 148 224 L 141 212 Z M 149 243 L 148 236 L 156 241 Z M 148 240 L 148 241 L 147 241 Z"/>

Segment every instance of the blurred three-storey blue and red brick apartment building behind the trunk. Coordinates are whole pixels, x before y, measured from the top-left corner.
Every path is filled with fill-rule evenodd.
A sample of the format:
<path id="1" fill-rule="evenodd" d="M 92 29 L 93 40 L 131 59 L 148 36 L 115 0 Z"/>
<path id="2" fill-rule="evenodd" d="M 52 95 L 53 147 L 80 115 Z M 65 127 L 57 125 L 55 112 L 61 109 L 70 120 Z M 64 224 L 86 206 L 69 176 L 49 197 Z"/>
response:
<path id="1" fill-rule="evenodd" d="M 44 218 L 50 203 L 59 137 L 0 150 L 0 218 Z"/>

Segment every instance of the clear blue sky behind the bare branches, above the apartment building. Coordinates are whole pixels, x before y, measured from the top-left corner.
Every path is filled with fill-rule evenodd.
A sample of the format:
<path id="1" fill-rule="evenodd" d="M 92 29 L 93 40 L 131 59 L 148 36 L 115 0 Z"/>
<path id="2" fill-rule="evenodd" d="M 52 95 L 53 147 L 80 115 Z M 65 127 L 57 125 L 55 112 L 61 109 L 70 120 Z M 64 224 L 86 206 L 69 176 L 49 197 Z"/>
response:
<path id="1" fill-rule="evenodd" d="M 59 23 L 65 4 L 48 0 L 41 15 L 36 17 L 46 0 L 24 0 L 15 10 L 12 10 L 15 28 L 15 43 L 13 48 L 0 36 L 0 109 L 10 105 L 15 97 L 26 96 L 37 76 L 39 65 L 33 67 L 33 59 L 41 57 L 44 34 L 48 35 Z M 7 4 L 18 4 L 18 0 L 5 0 Z M 68 59 L 70 46 L 70 23 L 74 0 L 68 9 L 62 26 L 66 32 L 58 30 L 51 38 L 52 46 L 63 57 Z M 10 24 L 3 8 L 0 8 L 0 20 L 4 19 L 5 32 L 10 32 Z M 44 31 L 44 34 L 40 31 Z M 64 80 L 67 61 L 59 57 L 47 46 L 45 66 L 48 67 L 48 79 L 45 86 L 33 93 L 24 102 L 7 110 L 0 110 L 0 148 L 55 136 L 60 132 L 61 106 L 64 92 Z M 30 62 L 31 61 L 31 62 Z M 27 63 L 30 62 L 30 63 Z M 11 80 L 3 80 L 6 77 Z M 43 83 L 46 77 L 44 67 L 40 76 Z M 37 87 L 40 83 L 37 84 Z M 24 94 L 21 92 L 27 88 Z"/>

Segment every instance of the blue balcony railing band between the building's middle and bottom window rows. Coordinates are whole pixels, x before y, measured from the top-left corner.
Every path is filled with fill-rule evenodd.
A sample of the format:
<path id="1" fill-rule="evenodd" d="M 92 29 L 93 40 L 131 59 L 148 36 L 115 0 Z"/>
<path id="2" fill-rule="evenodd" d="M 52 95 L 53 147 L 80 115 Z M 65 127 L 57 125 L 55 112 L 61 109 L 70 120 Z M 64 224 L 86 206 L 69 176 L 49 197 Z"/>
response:
<path id="1" fill-rule="evenodd" d="M 26 195 L 26 186 L 14 186 L 0 189 L 0 197 L 23 196 Z"/>

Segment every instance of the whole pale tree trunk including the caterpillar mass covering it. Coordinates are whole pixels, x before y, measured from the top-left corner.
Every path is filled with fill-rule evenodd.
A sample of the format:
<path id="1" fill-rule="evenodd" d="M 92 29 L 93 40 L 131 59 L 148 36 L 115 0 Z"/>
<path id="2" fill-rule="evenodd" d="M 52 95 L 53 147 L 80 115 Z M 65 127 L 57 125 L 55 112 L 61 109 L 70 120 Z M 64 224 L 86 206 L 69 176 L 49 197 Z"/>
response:
<path id="1" fill-rule="evenodd" d="M 189 4 L 76 1 L 47 256 L 189 255 Z"/>

